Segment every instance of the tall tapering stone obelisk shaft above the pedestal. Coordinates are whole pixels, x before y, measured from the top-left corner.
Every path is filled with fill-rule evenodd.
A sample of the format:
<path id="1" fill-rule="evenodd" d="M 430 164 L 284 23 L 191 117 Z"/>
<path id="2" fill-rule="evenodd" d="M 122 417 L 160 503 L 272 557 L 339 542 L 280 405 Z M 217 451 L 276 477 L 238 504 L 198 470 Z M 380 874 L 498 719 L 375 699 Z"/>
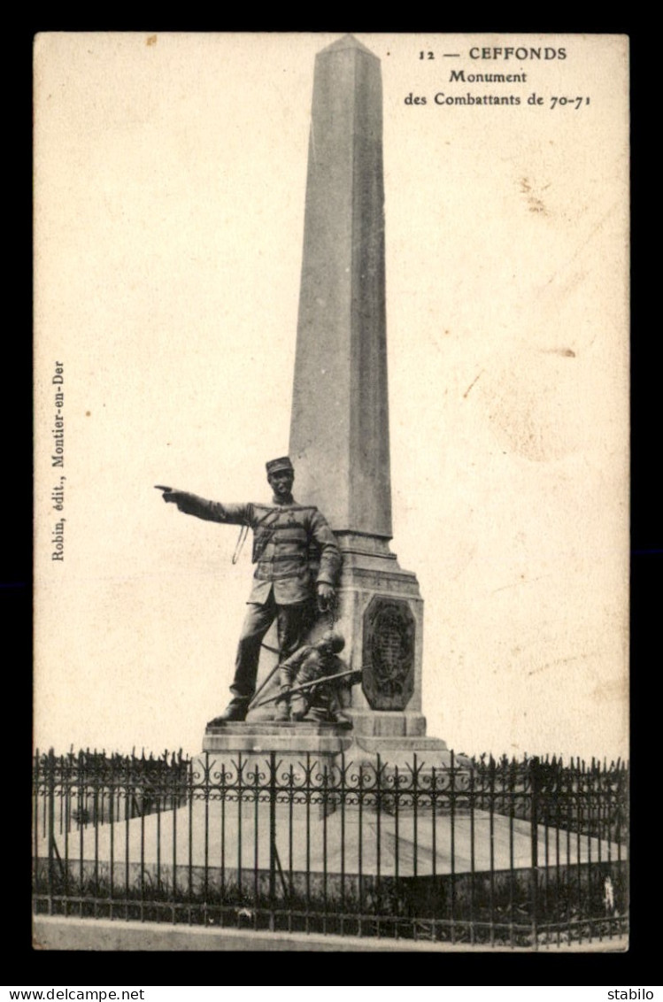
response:
<path id="1" fill-rule="evenodd" d="M 289 454 L 296 496 L 391 539 L 380 60 L 316 56 Z"/>

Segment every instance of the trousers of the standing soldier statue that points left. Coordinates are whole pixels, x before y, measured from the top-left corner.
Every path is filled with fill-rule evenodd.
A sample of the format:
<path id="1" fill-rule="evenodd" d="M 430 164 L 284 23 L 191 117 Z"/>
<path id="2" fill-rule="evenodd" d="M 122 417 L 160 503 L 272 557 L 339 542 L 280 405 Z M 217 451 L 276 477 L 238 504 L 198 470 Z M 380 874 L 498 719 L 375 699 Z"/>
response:
<path id="1" fill-rule="evenodd" d="M 299 602 L 296 605 L 276 605 L 273 592 L 269 593 L 269 598 L 264 605 L 250 604 L 248 606 L 237 644 L 234 678 L 230 686 L 230 691 L 235 698 L 250 699 L 255 691 L 260 644 L 274 619 L 276 620 L 278 636 L 278 660 L 283 661 L 300 646 L 308 618 L 308 602 Z"/>

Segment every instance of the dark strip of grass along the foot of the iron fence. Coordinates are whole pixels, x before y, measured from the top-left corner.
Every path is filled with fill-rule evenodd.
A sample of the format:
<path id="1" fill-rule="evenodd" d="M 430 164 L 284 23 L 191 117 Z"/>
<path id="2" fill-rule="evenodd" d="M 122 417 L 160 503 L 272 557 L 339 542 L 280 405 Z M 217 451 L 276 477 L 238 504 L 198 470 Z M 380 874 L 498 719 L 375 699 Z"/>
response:
<path id="1" fill-rule="evenodd" d="M 236 875 L 221 885 L 218 874 L 211 874 L 215 882 L 204 887 L 173 887 L 171 880 L 143 871 L 125 888 L 111 886 L 108 875 L 81 878 L 61 870 L 51 875 L 49 886 L 44 869 L 35 878 L 34 900 L 37 914 L 533 949 L 626 933 L 625 871 L 613 872 L 609 912 L 599 893 L 602 875 L 594 870 L 593 876 L 587 873 L 584 891 L 566 881 L 554 898 L 550 888 L 547 898 L 540 895 L 536 928 L 530 887 L 513 881 L 494 882 L 489 896 L 483 884 L 473 889 L 449 878 L 384 879 L 378 887 L 363 885 L 360 895 L 355 878 L 325 887 L 325 893 L 319 887 L 305 893 L 305 875 L 296 874 L 291 892 L 277 883 L 270 897 L 264 872 L 242 876 L 241 885 Z"/>

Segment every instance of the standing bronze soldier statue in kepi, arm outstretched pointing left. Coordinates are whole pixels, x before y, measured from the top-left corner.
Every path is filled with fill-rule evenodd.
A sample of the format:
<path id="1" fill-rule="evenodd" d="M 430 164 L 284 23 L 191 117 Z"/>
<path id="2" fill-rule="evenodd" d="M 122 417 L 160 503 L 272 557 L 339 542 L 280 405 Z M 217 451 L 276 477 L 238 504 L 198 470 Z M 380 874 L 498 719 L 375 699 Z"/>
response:
<path id="1" fill-rule="evenodd" d="M 276 620 L 279 661 L 300 646 L 311 625 L 311 606 L 318 612 L 334 607 L 341 572 L 341 553 L 324 517 L 317 508 L 292 498 L 294 469 L 287 456 L 266 464 L 272 490 L 271 504 L 224 504 L 196 494 L 159 485 L 163 500 L 187 515 L 253 530 L 255 564 L 248 609 L 239 636 L 232 699 L 210 720 L 243 720 L 255 691 L 260 645 Z"/>

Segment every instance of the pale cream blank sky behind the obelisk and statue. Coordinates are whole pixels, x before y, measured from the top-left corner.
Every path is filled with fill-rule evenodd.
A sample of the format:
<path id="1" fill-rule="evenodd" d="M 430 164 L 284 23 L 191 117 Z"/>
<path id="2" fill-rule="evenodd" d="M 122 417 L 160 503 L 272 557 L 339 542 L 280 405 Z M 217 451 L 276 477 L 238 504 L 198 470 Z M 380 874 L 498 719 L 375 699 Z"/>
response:
<path id="1" fill-rule="evenodd" d="M 39 747 L 196 753 L 225 704 L 250 547 L 233 565 L 236 530 L 153 484 L 269 497 L 313 60 L 337 37 L 36 40 Z M 382 62 L 392 548 L 425 600 L 428 732 L 459 753 L 624 757 L 626 40 L 518 36 L 566 52 L 537 61 L 469 54 L 516 36 L 357 37 Z"/>

